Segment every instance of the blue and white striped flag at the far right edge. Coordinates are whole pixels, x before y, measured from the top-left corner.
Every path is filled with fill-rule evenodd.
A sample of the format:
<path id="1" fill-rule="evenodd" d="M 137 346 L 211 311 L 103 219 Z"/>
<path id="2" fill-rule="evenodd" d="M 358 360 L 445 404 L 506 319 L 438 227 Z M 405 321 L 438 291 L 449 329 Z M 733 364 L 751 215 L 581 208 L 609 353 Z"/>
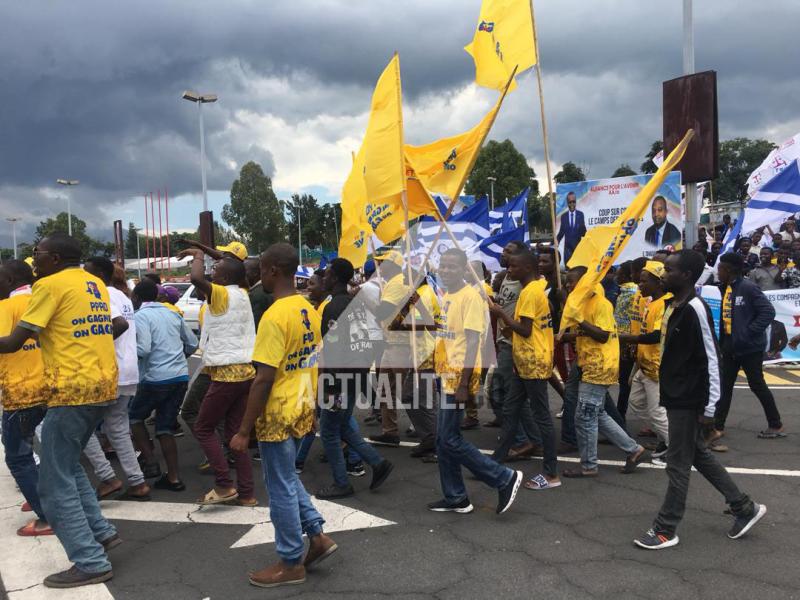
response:
<path id="1" fill-rule="evenodd" d="M 777 231 L 781 223 L 797 212 L 800 212 L 800 166 L 795 159 L 750 198 L 741 229 L 749 233 L 769 225 Z"/>

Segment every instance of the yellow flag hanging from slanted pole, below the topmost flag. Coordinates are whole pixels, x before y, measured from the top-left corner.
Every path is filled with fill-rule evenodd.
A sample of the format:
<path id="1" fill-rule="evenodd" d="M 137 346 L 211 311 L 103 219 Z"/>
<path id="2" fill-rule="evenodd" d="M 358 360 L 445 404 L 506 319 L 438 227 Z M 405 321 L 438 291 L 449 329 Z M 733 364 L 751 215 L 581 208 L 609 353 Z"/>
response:
<path id="1" fill-rule="evenodd" d="M 508 78 L 506 78 L 508 81 Z M 503 97 L 497 100 L 480 123 L 469 131 L 424 146 L 406 144 L 406 157 L 422 184 L 432 193 L 452 200 L 458 198 L 481 144 L 492 128 Z"/>

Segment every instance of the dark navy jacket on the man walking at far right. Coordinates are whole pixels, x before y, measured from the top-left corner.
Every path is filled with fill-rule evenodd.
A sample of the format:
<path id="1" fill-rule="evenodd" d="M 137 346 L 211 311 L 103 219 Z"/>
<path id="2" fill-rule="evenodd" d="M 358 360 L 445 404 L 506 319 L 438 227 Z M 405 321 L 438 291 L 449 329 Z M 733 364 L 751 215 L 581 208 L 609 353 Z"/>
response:
<path id="1" fill-rule="evenodd" d="M 723 310 L 725 286 L 720 286 Z M 767 350 L 767 327 L 775 319 L 775 308 L 764 292 L 749 279 L 739 278 L 731 284 L 731 335 L 722 332 L 720 319 L 719 339 L 723 351 L 744 356 Z"/>

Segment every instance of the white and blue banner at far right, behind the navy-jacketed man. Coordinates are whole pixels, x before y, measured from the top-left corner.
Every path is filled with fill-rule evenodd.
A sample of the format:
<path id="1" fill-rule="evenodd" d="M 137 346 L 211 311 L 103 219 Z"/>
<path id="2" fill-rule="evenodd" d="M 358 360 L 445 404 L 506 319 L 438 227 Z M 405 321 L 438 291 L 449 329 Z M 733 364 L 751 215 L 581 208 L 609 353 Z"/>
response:
<path id="1" fill-rule="evenodd" d="M 722 296 L 719 288 L 704 285 L 699 290 L 714 318 L 714 328 L 719 333 L 722 313 Z M 778 364 L 800 361 L 800 348 L 792 350 L 789 340 L 800 334 L 800 289 L 771 290 L 764 295 L 775 308 L 775 320 L 767 330 L 767 347 L 764 348 L 764 363 Z"/>

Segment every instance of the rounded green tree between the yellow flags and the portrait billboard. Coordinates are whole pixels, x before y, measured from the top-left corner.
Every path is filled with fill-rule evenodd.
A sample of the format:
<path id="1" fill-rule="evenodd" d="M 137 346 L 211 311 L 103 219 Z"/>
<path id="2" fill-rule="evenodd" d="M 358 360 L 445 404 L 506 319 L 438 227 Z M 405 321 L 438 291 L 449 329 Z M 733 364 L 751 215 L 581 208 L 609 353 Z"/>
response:
<path id="1" fill-rule="evenodd" d="M 472 172 L 469 174 L 465 192 L 475 196 L 489 196 L 491 183 L 489 177 L 495 177 L 495 205 L 503 204 L 506 198 L 513 198 L 526 187 L 534 198 L 539 195 L 539 183 L 522 153 L 514 147 L 511 140 L 497 142 L 491 140 L 481 148 Z"/>

